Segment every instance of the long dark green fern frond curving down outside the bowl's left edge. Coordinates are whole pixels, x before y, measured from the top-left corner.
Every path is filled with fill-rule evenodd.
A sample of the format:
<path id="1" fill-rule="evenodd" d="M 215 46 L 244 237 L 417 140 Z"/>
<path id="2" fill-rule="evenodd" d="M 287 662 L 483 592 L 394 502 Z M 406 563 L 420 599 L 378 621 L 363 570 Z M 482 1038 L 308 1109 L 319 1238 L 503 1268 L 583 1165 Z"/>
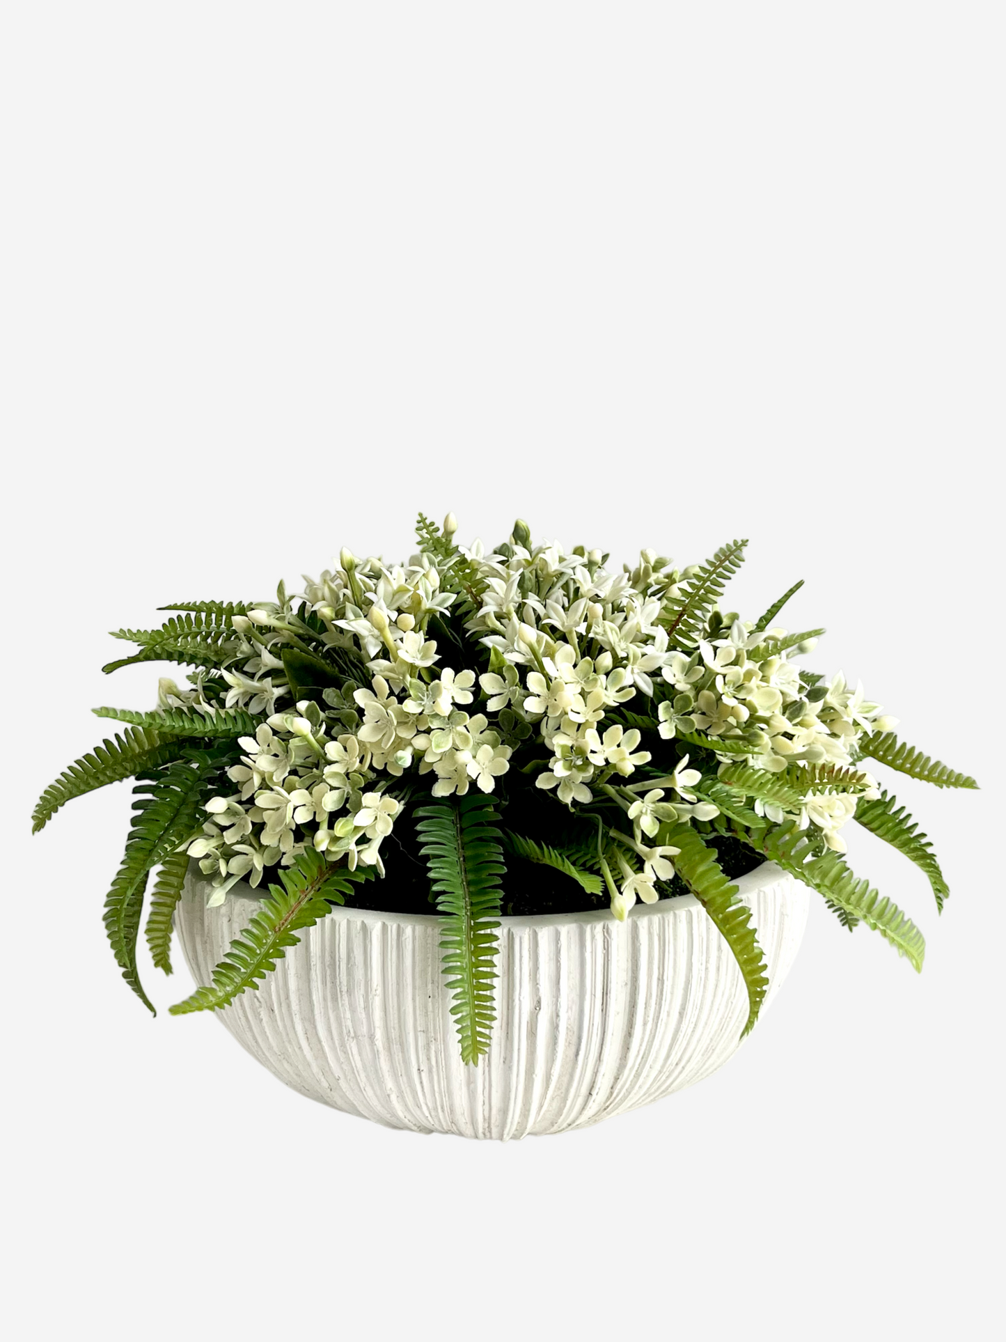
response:
<path id="1" fill-rule="evenodd" d="M 199 829 L 200 808 L 209 792 L 207 774 L 205 762 L 177 761 L 137 784 L 122 866 L 105 896 L 105 930 L 115 961 L 122 977 L 152 1012 L 153 1004 L 137 970 L 137 935 L 146 880 L 153 867 Z"/>

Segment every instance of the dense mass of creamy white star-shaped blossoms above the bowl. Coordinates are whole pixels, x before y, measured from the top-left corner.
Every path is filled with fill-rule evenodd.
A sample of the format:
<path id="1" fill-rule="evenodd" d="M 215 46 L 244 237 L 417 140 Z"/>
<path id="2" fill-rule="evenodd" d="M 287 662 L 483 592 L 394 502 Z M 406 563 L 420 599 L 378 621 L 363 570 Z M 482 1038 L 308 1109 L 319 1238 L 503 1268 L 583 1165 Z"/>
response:
<path id="1" fill-rule="evenodd" d="M 637 896 L 656 899 L 655 883 L 673 874 L 676 849 L 647 845 L 661 824 L 718 815 L 695 790 L 703 776 L 687 768 L 688 756 L 653 761 L 634 719 L 648 718 L 655 746 L 699 734 L 722 746 L 723 764 L 769 773 L 848 765 L 864 733 L 893 725 L 842 676 L 822 684 L 801 675 L 785 629 L 720 619 L 708 639 L 681 647 L 668 612 L 693 570 L 679 572 L 652 550 L 610 573 L 600 552 L 534 548 L 520 526 L 494 553 L 479 542 L 455 549 L 455 526 L 448 517 L 441 548 L 401 566 L 343 550 L 338 566 L 304 580 L 300 596 L 280 588 L 276 603 L 235 616 L 221 703 L 208 695 L 205 675 L 190 691 L 162 684 L 165 706 L 239 707 L 267 719 L 241 738 L 244 754 L 229 769 L 235 789 L 209 801 L 189 848 L 213 874 L 216 898 L 243 878 L 258 884 L 266 868 L 291 863 L 309 844 L 333 862 L 384 872 L 380 849 L 401 811 L 398 780 L 432 776 L 435 797 L 491 793 L 518 768 L 522 781 L 569 807 L 610 797 L 622 807 L 633 840 L 612 902 L 624 917 Z M 284 654 L 339 674 L 323 696 L 299 699 Z M 298 702 L 278 709 L 283 701 Z M 641 710 L 626 717 L 632 701 Z M 622 721 L 609 721 L 620 713 Z M 644 781 L 628 782 L 641 769 Z M 783 813 L 758 807 L 770 819 Z M 797 816 L 840 848 L 853 809 L 854 797 L 817 790 Z"/>

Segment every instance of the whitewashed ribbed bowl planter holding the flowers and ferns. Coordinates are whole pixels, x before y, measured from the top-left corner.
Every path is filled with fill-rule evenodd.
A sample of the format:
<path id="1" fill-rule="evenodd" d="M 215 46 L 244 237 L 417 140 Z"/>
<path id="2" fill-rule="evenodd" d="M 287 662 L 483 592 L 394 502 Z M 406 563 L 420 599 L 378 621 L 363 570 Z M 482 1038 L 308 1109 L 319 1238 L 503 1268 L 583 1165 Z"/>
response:
<path id="1" fill-rule="evenodd" d="M 738 886 L 769 965 L 769 1005 L 803 937 L 807 891 L 770 863 Z M 207 909 L 207 884 L 189 868 L 176 926 L 200 984 L 258 907 L 247 886 L 236 892 Z M 389 1127 L 500 1141 L 649 1104 L 738 1047 L 740 972 L 691 895 L 637 905 L 625 923 L 606 911 L 503 918 L 496 1024 L 478 1067 L 459 1057 L 440 926 L 335 909 L 219 1017 L 310 1099 Z"/>

